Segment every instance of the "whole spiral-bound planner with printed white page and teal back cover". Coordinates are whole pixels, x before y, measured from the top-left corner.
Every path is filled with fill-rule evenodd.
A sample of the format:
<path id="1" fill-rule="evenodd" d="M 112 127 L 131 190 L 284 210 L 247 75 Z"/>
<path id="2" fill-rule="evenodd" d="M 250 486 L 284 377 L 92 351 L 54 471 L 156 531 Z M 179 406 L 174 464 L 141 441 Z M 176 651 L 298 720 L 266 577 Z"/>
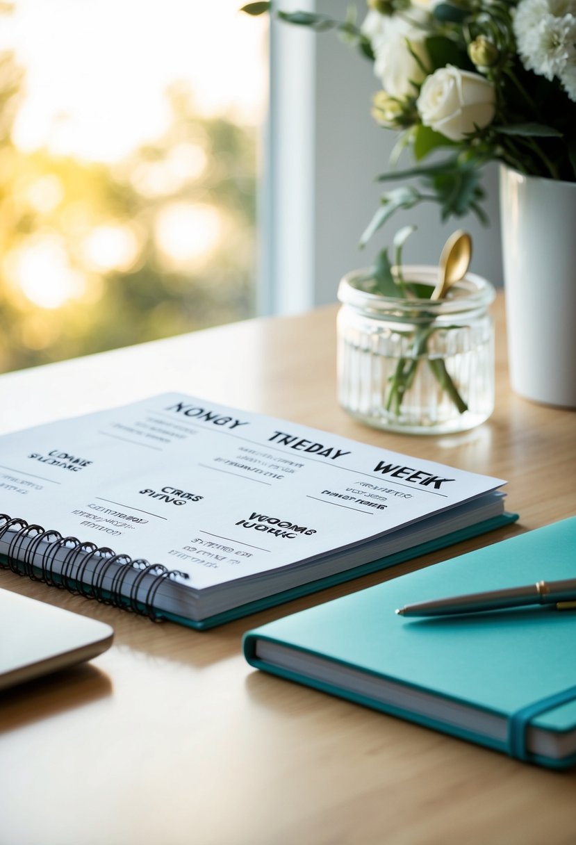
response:
<path id="1" fill-rule="evenodd" d="M 0 438 L 0 555 L 208 628 L 501 526 L 503 484 L 165 394 Z"/>

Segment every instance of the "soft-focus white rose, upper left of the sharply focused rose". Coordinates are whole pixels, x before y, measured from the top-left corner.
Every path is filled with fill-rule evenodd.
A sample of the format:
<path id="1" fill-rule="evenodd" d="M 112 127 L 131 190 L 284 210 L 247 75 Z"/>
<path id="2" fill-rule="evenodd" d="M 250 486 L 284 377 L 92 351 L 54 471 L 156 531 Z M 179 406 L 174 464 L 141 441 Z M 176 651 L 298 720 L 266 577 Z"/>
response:
<path id="1" fill-rule="evenodd" d="M 374 73 L 390 96 L 415 96 L 417 86 L 426 79 L 426 37 L 424 30 L 405 19 L 390 18 L 381 35 L 372 41 Z"/>

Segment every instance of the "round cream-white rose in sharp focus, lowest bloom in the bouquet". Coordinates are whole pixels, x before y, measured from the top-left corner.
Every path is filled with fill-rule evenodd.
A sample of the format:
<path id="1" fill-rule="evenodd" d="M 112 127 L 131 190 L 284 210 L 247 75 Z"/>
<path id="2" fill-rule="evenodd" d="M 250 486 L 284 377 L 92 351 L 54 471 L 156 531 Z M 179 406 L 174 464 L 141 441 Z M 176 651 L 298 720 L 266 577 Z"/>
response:
<path id="1" fill-rule="evenodd" d="M 416 101 L 422 123 L 452 141 L 492 123 L 494 86 L 480 74 L 448 65 L 427 78 Z"/>

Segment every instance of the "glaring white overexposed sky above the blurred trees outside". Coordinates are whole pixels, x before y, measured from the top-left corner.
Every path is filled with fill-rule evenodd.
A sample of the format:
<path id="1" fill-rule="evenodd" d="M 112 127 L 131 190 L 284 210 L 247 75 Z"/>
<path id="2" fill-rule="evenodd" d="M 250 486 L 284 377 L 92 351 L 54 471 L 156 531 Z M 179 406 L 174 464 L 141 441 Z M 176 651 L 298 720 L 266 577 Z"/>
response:
<path id="1" fill-rule="evenodd" d="M 17 0 L 0 32 L 26 68 L 15 143 L 118 161 L 166 129 L 165 91 L 177 79 L 192 86 L 198 114 L 259 123 L 266 22 L 241 5 Z"/>

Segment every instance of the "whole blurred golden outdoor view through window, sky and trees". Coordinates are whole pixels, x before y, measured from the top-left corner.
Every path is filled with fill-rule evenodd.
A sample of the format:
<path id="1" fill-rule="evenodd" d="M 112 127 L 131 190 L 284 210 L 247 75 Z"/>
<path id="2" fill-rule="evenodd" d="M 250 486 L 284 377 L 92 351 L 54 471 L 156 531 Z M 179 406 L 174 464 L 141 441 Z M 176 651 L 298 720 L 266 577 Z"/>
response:
<path id="1" fill-rule="evenodd" d="M 236 0 L 0 15 L 0 372 L 253 315 L 266 26 Z"/>

